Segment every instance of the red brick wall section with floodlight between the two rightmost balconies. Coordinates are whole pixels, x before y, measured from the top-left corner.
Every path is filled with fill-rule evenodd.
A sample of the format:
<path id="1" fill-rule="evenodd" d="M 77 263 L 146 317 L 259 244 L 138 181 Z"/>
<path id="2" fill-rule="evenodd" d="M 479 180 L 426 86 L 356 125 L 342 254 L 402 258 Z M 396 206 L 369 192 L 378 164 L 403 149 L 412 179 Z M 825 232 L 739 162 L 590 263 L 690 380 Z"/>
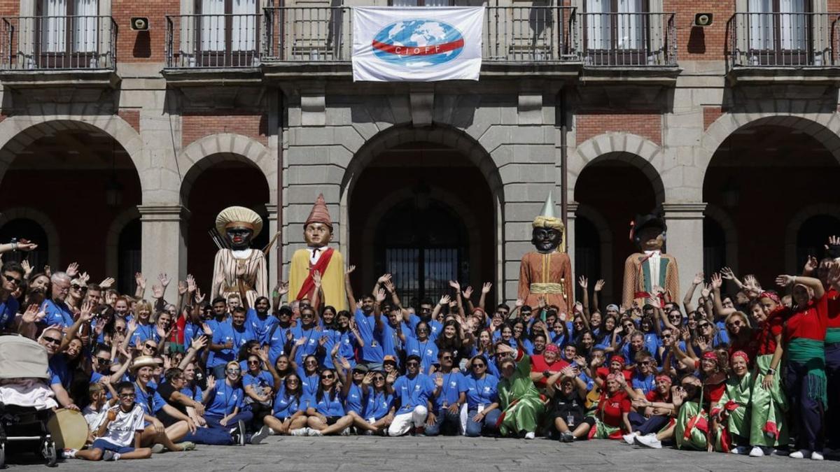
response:
<path id="1" fill-rule="evenodd" d="M 727 21 L 735 13 L 734 0 L 664 0 L 663 10 L 676 12 L 678 60 L 722 60 L 726 57 Z M 713 13 L 711 26 L 691 26 L 695 13 Z"/>

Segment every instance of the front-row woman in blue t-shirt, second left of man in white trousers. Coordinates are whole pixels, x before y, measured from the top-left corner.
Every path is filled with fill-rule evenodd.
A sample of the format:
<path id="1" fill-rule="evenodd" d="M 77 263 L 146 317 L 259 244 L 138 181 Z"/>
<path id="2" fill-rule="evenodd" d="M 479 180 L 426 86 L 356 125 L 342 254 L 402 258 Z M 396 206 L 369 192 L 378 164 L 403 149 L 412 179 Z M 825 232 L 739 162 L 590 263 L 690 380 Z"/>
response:
<path id="1" fill-rule="evenodd" d="M 339 389 L 336 383 L 339 375 L 335 370 L 324 369 L 321 371 L 321 382 L 318 384 L 318 391 L 315 396 L 308 397 L 309 407 L 307 415 L 309 419 L 310 436 L 326 436 L 328 434 L 344 434 L 345 430 L 353 424 L 353 417 L 344 410 Z"/>

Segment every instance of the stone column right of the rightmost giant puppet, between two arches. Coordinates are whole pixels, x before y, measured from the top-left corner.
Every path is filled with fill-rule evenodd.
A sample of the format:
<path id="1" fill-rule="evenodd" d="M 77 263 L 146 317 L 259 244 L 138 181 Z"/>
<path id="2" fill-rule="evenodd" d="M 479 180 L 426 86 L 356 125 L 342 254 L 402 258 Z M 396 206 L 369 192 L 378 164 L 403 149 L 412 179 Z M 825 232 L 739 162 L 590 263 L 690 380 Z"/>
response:
<path id="1" fill-rule="evenodd" d="M 679 300 L 682 300 L 694 275 L 703 270 L 703 210 L 706 203 L 664 203 L 663 207 L 668 224 L 665 252 L 675 256 L 680 266 Z"/>

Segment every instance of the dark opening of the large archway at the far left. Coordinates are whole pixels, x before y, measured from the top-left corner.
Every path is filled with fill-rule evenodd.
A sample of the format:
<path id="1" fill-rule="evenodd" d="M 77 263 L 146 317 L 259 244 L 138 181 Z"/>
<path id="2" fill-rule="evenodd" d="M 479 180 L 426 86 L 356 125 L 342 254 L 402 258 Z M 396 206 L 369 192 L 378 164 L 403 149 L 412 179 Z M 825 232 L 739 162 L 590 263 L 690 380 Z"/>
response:
<path id="1" fill-rule="evenodd" d="M 108 273 L 108 232 L 139 205 L 141 191 L 134 161 L 112 134 L 81 121 L 50 121 L 24 129 L 0 154 L 13 158 L 0 182 L 0 213 L 31 207 L 50 221 L 59 241 L 59 257 L 53 249 L 47 254 L 53 270 L 78 262 L 92 280 L 112 276 L 124 283 Z M 48 241 L 36 242 L 46 249 Z"/>

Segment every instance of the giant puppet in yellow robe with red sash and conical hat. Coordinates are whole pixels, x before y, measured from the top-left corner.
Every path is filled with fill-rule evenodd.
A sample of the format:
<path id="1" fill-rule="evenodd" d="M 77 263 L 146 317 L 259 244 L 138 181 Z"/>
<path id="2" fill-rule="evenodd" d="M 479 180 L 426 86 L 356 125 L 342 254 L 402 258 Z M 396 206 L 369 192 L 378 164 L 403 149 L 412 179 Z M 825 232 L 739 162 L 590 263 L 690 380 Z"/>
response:
<path id="1" fill-rule="evenodd" d="M 327 204 L 323 194 L 318 195 L 312 212 L 303 223 L 303 238 L 307 248 L 297 249 L 291 255 L 289 265 L 290 301 L 312 300 L 315 295 L 315 283 L 312 274 L 317 270 L 321 274 L 323 299 L 320 305 L 332 306 L 336 310 L 347 309 L 347 296 L 344 294 L 344 257 L 338 249 L 328 246 L 333 239 L 333 221 L 329 218 Z"/>

